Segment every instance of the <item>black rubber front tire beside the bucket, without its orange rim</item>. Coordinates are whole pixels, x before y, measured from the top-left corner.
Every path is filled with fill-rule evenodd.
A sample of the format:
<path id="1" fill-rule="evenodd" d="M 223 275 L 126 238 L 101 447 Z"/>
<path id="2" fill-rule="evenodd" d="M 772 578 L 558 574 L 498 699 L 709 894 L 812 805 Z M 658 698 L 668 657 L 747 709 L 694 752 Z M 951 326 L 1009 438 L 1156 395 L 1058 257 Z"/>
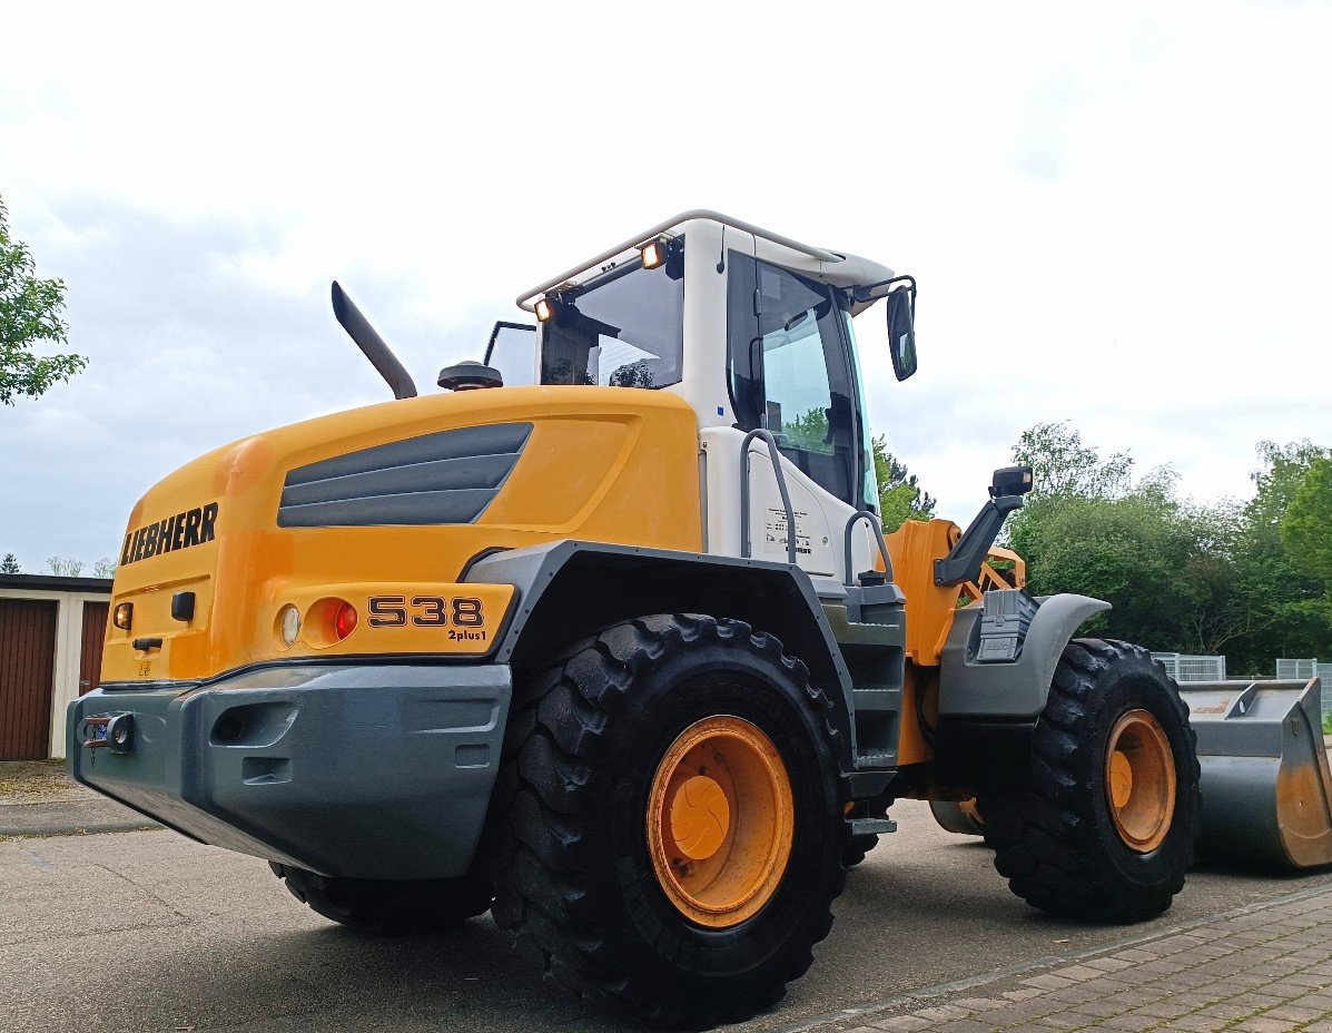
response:
<path id="1" fill-rule="evenodd" d="M 1111 730 L 1148 710 L 1169 742 L 1175 813 L 1164 841 L 1139 853 L 1115 829 L 1106 785 Z M 983 790 L 986 842 L 1014 893 L 1074 918 L 1135 922 L 1160 914 L 1193 862 L 1200 797 L 1196 736 L 1166 668 L 1138 645 L 1075 638 L 1036 721 L 1031 785 Z"/>

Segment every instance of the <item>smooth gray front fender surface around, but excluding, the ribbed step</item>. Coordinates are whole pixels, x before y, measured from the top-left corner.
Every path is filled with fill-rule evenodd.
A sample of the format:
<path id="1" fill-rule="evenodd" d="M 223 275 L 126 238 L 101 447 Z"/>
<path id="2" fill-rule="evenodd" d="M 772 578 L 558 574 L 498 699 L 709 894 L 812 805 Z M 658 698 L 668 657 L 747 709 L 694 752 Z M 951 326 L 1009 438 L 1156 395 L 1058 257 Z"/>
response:
<path id="1" fill-rule="evenodd" d="M 978 664 L 968 656 L 983 606 L 959 609 L 943 646 L 940 717 L 1035 718 L 1046 706 L 1055 665 L 1074 632 L 1110 604 L 1090 596 L 1042 596 L 1022 653 L 1011 662 Z"/>

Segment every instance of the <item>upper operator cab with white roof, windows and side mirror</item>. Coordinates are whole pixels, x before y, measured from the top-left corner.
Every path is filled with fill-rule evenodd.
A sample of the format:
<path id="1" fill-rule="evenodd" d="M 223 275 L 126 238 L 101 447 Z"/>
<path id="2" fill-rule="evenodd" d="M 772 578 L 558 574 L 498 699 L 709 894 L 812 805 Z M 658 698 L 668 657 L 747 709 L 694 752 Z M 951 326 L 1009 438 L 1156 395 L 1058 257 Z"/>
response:
<path id="1" fill-rule="evenodd" d="M 687 289 L 686 289 L 687 288 Z M 699 431 L 773 435 L 855 509 L 878 509 L 852 316 L 888 299 L 899 379 L 915 372 L 915 281 L 713 212 L 678 216 L 518 299 L 485 363 L 505 385 L 666 389 Z"/>

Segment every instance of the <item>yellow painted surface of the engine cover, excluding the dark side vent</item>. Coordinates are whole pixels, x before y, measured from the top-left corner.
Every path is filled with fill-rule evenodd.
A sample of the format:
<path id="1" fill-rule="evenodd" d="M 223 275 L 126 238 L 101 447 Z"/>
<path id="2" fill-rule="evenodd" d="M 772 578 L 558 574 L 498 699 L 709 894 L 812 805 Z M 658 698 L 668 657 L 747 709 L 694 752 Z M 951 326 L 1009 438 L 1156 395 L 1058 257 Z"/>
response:
<path id="1" fill-rule="evenodd" d="M 474 522 L 277 524 L 284 480 L 296 467 L 440 431 L 507 423 L 530 423 L 533 431 Z M 198 541 L 188 544 L 176 525 L 184 526 L 194 511 L 204 512 L 204 524 L 193 520 Z M 176 548 L 133 560 L 135 532 L 149 525 L 160 525 L 164 540 L 174 532 Z M 201 528 L 212 537 L 205 540 Z M 117 569 L 112 589 L 113 606 L 135 604 L 133 621 L 128 630 L 108 626 L 103 680 L 202 678 L 306 654 L 482 654 L 494 644 L 513 589 L 462 589 L 454 582 L 466 562 L 486 549 L 561 538 L 702 549 L 698 432 L 685 401 L 630 388 L 500 388 L 370 405 L 260 433 L 182 467 L 135 507 L 125 540 L 131 561 Z M 170 616 L 170 598 L 181 590 L 196 596 L 188 624 Z M 412 617 L 404 626 L 368 622 L 370 596 L 452 600 L 464 590 L 482 600 L 485 622 L 476 630 L 484 638 L 450 640 L 446 625 L 420 625 Z M 357 609 L 357 629 L 337 644 L 322 641 L 309 624 L 320 598 L 342 598 Z M 301 640 L 285 649 L 276 620 L 288 602 L 305 620 Z M 140 637 L 163 644 L 135 649 Z"/>

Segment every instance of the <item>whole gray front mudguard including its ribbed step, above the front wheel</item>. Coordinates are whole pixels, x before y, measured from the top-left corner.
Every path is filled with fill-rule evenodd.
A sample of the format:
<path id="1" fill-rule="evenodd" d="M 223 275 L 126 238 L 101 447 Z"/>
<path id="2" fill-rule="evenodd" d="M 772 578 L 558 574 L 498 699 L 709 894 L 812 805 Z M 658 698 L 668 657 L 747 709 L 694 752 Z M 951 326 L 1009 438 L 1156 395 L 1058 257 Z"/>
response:
<path id="1" fill-rule="evenodd" d="M 1026 612 L 1012 613 L 1015 608 L 1008 605 L 1012 602 L 1020 602 Z M 1068 640 L 1090 617 L 1107 609 L 1108 602 L 1090 596 L 1034 598 L 1019 589 L 986 592 L 982 605 L 959 609 L 940 657 L 940 718 L 1034 721 L 1046 706 L 1055 666 Z M 996 616 L 996 610 L 1002 613 Z M 999 625 L 1004 641 L 1015 645 L 1014 660 L 983 648 L 982 618 L 987 616 Z M 1030 625 L 1023 630 L 1028 617 Z"/>

